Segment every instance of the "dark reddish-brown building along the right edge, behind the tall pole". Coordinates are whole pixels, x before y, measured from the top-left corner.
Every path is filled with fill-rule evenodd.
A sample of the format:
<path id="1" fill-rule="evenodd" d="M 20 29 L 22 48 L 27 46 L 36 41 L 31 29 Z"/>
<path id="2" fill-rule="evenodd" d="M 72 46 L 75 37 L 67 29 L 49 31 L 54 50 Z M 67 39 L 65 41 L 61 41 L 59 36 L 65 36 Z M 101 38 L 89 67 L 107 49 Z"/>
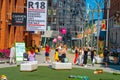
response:
<path id="1" fill-rule="evenodd" d="M 120 46 L 120 0 L 110 0 L 109 12 L 109 47 Z M 107 9 L 105 3 L 104 18 L 107 19 Z"/>

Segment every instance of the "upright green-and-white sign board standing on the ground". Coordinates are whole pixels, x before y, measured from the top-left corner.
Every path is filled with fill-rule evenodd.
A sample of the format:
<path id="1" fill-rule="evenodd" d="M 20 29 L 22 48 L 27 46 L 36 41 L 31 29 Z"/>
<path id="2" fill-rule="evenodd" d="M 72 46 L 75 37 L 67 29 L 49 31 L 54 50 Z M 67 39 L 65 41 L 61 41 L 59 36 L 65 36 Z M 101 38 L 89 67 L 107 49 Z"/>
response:
<path id="1" fill-rule="evenodd" d="M 25 43 L 17 42 L 15 43 L 15 48 L 16 48 L 16 61 L 17 62 L 23 61 L 23 53 L 25 53 Z"/>

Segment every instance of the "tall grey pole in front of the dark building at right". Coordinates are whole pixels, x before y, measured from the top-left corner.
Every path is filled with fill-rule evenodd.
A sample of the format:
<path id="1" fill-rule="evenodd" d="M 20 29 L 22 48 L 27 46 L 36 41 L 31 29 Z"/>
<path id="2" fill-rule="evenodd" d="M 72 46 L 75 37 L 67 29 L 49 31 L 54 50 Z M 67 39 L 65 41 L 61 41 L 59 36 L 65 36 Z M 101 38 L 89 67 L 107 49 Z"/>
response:
<path id="1" fill-rule="evenodd" d="M 110 0 L 106 0 L 107 2 L 107 30 L 106 30 L 106 47 L 108 47 L 108 24 L 109 24 L 109 10 L 110 10 Z"/>

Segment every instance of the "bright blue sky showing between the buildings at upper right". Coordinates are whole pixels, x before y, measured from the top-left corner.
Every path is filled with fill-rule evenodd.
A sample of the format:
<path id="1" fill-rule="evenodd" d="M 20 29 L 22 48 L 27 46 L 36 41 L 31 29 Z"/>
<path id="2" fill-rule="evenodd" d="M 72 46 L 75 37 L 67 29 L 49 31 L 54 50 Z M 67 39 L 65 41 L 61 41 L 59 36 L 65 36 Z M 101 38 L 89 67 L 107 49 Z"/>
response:
<path id="1" fill-rule="evenodd" d="M 100 0 L 97 0 L 97 1 L 99 1 L 100 2 Z M 95 3 L 95 0 L 86 0 L 86 2 L 87 2 L 87 10 L 89 10 L 88 8 L 92 8 L 92 10 L 97 10 L 97 5 L 96 5 L 96 3 Z M 102 3 L 102 5 L 101 5 L 101 9 L 103 9 L 103 6 L 104 5 L 104 3 Z M 91 6 L 91 7 L 89 7 L 89 6 Z M 89 11 L 89 14 L 90 14 L 90 20 L 92 20 L 92 14 L 91 14 L 91 12 Z M 103 12 L 100 12 L 100 19 L 102 19 L 103 18 Z M 98 19 L 98 12 L 96 11 L 96 12 L 94 12 L 94 19 Z"/>

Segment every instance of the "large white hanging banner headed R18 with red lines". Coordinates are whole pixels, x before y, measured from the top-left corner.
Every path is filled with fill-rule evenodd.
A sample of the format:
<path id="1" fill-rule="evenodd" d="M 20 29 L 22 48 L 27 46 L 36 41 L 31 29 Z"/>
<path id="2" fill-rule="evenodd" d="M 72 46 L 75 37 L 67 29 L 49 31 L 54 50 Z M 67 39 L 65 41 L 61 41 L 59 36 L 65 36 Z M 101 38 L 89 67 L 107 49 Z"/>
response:
<path id="1" fill-rule="evenodd" d="M 47 0 L 27 0 L 27 31 L 46 31 Z"/>

